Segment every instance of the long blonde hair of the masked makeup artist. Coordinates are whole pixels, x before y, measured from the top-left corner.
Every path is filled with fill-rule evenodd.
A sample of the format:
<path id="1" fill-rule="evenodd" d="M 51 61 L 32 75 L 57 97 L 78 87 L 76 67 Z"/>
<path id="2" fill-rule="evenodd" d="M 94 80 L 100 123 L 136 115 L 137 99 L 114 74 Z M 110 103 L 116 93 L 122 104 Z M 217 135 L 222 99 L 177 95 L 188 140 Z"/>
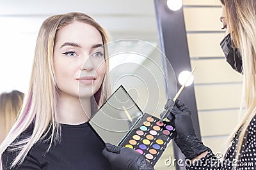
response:
<path id="1" fill-rule="evenodd" d="M 241 129 L 238 137 L 236 159 L 241 152 L 246 129 L 256 114 L 256 1 L 221 0 L 234 46 L 239 48 L 243 61 L 243 105 L 246 115 L 232 136 Z M 242 104 L 241 104 L 242 106 Z"/>

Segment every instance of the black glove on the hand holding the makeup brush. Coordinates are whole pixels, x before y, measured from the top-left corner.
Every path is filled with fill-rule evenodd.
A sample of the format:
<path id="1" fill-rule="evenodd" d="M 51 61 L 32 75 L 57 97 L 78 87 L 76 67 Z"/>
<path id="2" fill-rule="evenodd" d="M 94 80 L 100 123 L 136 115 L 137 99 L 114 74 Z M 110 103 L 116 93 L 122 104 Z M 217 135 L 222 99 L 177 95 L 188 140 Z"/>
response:
<path id="1" fill-rule="evenodd" d="M 174 141 L 186 159 L 193 159 L 206 150 L 210 150 L 196 137 L 191 111 L 180 99 L 177 99 L 175 104 L 172 99 L 168 99 L 165 109 L 170 111 L 168 120 L 175 124 L 177 137 Z M 160 116 L 163 116 L 163 113 Z"/>

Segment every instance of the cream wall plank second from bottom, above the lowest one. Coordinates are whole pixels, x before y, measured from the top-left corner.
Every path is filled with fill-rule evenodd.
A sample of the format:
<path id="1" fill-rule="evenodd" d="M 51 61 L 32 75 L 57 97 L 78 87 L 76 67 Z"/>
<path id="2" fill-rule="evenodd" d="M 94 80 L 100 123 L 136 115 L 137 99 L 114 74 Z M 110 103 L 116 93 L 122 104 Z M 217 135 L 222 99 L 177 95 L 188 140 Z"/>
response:
<path id="1" fill-rule="evenodd" d="M 198 119 L 203 137 L 229 135 L 239 122 L 239 110 L 199 111 Z"/>

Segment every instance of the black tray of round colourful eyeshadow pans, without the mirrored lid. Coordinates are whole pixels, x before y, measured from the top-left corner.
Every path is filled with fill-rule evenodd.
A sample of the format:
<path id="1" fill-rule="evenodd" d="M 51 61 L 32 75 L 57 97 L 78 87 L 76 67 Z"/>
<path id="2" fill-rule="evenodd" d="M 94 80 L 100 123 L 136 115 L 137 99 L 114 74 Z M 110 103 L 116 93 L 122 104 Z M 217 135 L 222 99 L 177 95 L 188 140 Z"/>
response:
<path id="1" fill-rule="evenodd" d="M 159 118 L 144 113 L 120 145 L 141 153 L 154 166 L 174 136 L 175 127 L 170 122 L 159 122 Z"/>

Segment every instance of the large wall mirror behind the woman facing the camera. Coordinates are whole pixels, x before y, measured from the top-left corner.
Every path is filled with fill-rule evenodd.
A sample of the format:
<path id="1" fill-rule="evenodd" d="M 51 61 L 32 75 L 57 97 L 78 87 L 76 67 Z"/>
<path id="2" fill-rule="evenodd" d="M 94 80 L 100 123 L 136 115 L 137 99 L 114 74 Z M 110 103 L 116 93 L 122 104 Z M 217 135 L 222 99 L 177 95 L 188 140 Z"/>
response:
<path id="1" fill-rule="evenodd" d="M 143 53 L 136 53 L 130 57 L 128 54 L 113 55 L 109 58 L 112 68 L 109 73 L 111 90 L 115 92 L 120 85 L 124 85 L 141 111 L 159 117 L 166 103 L 167 88 L 162 73 L 164 61 L 158 49 L 156 15 L 152 0 L 76 0 L 74 3 L 67 0 L 61 3 L 32 0 L 15 3 L 1 1 L 0 22 L 3 27 L 0 28 L 0 77 L 4 81 L 1 82 L 0 92 L 17 89 L 26 94 L 40 25 L 51 15 L 69 11 L 86 13 L 103 25 L 109 31 L 110 40 L 113 42 L 113 46 L 109 46 L 109 51 L 128 50 Z M 120 39 L 137 39 L 145 42 L 145 46 L 138 44 L 138 41 L 127 44 L 121 41 L 115 43 Z M 172 145 L 168 148 L 172 149 Z M 164 153 L 166 157 L 171 154 L 170 150 Z M 163 156 L 163 160 L 158 161 L 161 169 L 164 166 L 164 159 Z"/>

